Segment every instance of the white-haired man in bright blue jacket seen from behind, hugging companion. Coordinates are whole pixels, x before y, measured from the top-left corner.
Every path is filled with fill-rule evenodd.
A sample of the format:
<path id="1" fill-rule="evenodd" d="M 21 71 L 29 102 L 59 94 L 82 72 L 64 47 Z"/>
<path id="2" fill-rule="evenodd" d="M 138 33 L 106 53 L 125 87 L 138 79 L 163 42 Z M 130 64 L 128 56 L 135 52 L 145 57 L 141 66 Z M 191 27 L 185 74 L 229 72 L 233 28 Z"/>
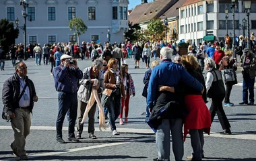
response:
<path id="1" fill-rule="evenodd" d="M 160 86 L 177 87 L 180 81 L 201 91 L 203 85 L 191 76 L 181 64 L 173 63 L 172 49 L 164 47 L 160 51 L 162 63 L 152 70 L 150 83 L 148 84 L 147 104 L 150 112 L 154 108 L 154 102 L 158 97 Z M 177 97 L 173 98 L 179 99 Z M 177 100 L 178 101 L 178 100 Z M 182 160 L 184 154 L 183 148 L 183 123 L 181 118 L 162 119 L 162 122 L 156 129 L 156 147 L 158 158 L 154 160 L 170 160 L 170 131 L 172 133 L 172 144 L 175 160 Z"/>

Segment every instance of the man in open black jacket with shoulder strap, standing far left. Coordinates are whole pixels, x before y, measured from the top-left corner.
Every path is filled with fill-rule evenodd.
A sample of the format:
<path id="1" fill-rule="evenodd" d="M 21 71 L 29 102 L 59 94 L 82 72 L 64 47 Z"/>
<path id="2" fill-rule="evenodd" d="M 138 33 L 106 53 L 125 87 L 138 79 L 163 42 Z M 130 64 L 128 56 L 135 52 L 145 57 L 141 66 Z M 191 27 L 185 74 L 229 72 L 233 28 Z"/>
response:
<path id="1" fill-rule="evenodd" d="M 25 144 L 30 133 L 31 113 L 34 102 L 38 101 L 34 83 L 27 76 L 27 66 L 24 62 L 15 64 L 15 73 L 3 84 L 3 105 L 5 119 L 11 120 L 14 131 L 14 141 L 11 143 L 13 155 L 20 160 L 28 160 Z"/>

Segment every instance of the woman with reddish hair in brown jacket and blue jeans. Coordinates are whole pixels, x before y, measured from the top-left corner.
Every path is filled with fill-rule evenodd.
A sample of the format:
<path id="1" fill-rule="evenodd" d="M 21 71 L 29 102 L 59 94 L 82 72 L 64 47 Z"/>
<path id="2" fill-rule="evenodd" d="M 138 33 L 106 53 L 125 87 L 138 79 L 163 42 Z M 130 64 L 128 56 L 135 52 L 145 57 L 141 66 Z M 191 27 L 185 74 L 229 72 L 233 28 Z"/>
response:
<path id="1" fill-rule="evenodd" d="M 104 74 L 104 86 L 105 90 L 113 91 L 110 97 L 110 104 L 108 105 L 108 115 L 109 122 L 108 125 L 111 128 L 113 135 L 119 135 L 115 121 L 120 115 L 121 111 L 121 97 L 126 99 L 125 88 L 123 85 L 123 78 L 119 74 L 118 70 L 118 60 L 115 58 L 110 58 L 108 61 L 108 70 Z"/>

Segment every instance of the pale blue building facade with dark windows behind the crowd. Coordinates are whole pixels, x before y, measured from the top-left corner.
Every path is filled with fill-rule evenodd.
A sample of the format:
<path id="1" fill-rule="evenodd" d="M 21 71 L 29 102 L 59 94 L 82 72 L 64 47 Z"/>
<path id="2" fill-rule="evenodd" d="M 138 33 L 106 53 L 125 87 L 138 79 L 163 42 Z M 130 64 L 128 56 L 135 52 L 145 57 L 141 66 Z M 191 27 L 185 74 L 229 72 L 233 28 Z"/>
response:
<path id="1" fill-rule="evenodd" d="M 80 17 L 88 30 L 79 36 L 82 41 L 123 42 L 123 33 L 128 30 L 129 0 L 27 0 L 27 44 L 55 42 L 77 42 L 77 36 L 69 30 L 69 20 Z M 7 18 L 15 25 L 18 17 L 24 25 L 23 7 L 20 0 L 0 0 L 0 19 Z M 23 43 L 20 30 L 16 43 Z"/>

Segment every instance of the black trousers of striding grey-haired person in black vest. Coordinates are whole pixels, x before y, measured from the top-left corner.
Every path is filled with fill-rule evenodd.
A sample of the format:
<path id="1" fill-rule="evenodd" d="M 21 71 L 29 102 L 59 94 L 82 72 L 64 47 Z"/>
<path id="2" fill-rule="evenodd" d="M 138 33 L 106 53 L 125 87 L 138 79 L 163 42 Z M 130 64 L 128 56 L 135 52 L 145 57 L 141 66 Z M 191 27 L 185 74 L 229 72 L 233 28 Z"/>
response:
<path id="1" fill-rule="evenodd" d="M 218 119 L 220 121 L 220 125 L 222 125 L 222 129 L 229 129 L 231 126 L 222 106 L 222 101 L 224 97 L 225 97 L 225 93 L 212 97 L 212 105 L 210 107 L 210 113 L 212 115 L 212 121 L 214 121 L 214 117 L 217 113 Z"/>

